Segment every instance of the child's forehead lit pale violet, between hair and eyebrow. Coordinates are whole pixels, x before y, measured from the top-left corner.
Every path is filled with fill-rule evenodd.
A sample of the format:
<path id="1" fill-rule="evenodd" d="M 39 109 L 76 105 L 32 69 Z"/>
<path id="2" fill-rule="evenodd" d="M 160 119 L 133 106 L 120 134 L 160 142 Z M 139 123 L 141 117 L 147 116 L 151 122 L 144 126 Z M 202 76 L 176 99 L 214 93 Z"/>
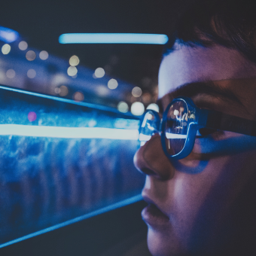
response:
<path id="1" fill-rule="evenodd" d="M 188 47 L 175 43 L 175 50 L 163 58 L 160 66 L 159 98 L 182 84 L 255 77 L 255 64 L 237 50 L 221 45 Z"/>

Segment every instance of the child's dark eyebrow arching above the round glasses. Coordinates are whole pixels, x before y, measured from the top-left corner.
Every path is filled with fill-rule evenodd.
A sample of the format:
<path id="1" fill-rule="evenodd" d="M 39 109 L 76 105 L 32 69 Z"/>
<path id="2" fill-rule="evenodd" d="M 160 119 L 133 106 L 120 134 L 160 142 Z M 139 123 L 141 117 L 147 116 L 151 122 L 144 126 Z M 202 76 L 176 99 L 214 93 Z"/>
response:
<path id="1" fill-rule="evenodd" d="M 157 100 L 157 105 L 160 108 L 160 112 L 163 113 L 163 99 L 172 102 L 173 99 L 178 96 L 187 96 L 189 98 L 197 96 L 199 94 L 208 94 L 220 99 L 231 100 L 241 104 L 238 97 L 233 90 L 228 87 L 221 87 L 215 84 L 213 81 L 194 82 L 189 84 L 182 84 L 180 87 L 173 90 L 171 93 L 166 94 L 161 99 Z M 166 99 L 167 98 L 167 99 Z"/>

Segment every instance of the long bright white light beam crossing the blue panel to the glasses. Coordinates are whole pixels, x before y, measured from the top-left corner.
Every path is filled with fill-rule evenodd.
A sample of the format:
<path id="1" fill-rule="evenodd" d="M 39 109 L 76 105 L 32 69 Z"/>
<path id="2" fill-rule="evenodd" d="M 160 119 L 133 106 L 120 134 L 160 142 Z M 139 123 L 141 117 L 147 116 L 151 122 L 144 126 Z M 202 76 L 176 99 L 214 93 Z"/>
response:
<path id="1" fill-rule="evenodd" d="M 0 124 L 0 136 L 32 136 L 78 139 L 128 139 L 137 140 L 138 130 L 110 129 L 101 127 L 32 126 Z"/>

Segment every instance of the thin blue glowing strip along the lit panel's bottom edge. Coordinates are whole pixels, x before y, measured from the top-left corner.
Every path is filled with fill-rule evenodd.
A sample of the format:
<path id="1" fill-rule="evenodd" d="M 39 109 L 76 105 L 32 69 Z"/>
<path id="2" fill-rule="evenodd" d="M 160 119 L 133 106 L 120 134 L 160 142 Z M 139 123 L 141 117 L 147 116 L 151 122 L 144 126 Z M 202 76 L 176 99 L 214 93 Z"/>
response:
<path id="1" fill-rule="evenodd" d="M 60 223 L 60 224 L 56 224 L 56 225 L 54 225 L 53 227 L 47 227 L 47 228 L 45 228 L 44 230 L 40 230 L 40 231 L 38 231 L 38 232 L 31 233 L 31 234 L 29 234 L 29 235 L 27 235 L 27 236 L 23 236 L 23 237 L 20 237 L 20 238 L 18 238 L 18 239 L 14 239 L 14 240 L 12 240 L 12 241 L 10 241 L 10 242 L 5 242 L 5 243 L 3 243 L 2 245 L 0 245 L 0 248 L 5 247 L 5 246 L 8 246 L 8 245 L 12 245 L 12 244 L 14 244 L 15 242 L 21 242 L 21 241 L 23 241 L 23 240 L 32 238 L 32 237 L 34 237 L 34 236 L 41 235 L 41 234 L 43 234 L 43 233 L 47 233 L 47 232 L 49 232 L 49 231 L 56 230 L 56 229 L 58 229 L 58 228 L 60 228 L 60 227 L 65 227 L 65 226 L 67 226 L 67 225 L 69 225 L 69 224 L 73 224 L 73 223 L 78 222 L 78 221 L 83 221 L 83 220 L 85 220 L 85 219 L 87 219 L 87 218 L 91 218 L 91 217 L 94 217 L 94 216 L 96 216 L 96 215 L 100 215 L 100 214 L 102 214 L 102 213 L 109 212 L 109 211 L 111 211 L 111 210 L 118 209 L 118 208 L 123 207 L 123 206 L 128 206 L 128 205 L 130 205 L 130 204 L 132 204 L 132 203 L 139 202 L 140 200 L 142 200 L 142 195 L 141 195 L 141 194 L 139 194 L 139 195 L 137 195 L 137 196 L 135 196 L 135 197 L 130 197 L 130 198 L 128 198 L 128 199 L 126 199 L 126 200 L 123 200 L 123 201 L 120 201 L 120 202 L 118 202 L 118 203 L 114 203 L 113 205 L 106 206 L 106 207 L 104 207 L 104 208 L 102 208 L 102 209 L 99 209 L 99 210 L 96 210 L 96 211 L 94 211 L 94 212 L 87 213 L 86 215 L 82 215 L 82 216 L 80 216 L 80 217 L 78 217 L 78 218 L 73 218 L 72 220 L 65 221 L 65 222 L 62 222 L 62 223 Z"/>

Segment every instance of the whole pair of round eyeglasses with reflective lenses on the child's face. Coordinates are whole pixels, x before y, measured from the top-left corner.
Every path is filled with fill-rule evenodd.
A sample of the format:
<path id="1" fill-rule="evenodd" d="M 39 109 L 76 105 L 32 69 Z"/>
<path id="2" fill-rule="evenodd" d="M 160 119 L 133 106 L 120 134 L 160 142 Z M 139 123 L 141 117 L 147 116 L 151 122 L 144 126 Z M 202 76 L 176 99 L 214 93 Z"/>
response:
<path id="1" fill-rule="evenodd" d="M 178 97 L 167 106 L 161 120 L 156 111 L 145 112 L 139 129 L 139 140 L 147 142 L 151 136 L 159 133 L 166 156 L 178 160 L 191 153 L 197 131 L 202 128 L 256 136 L 255 121 L 197 108 L 192 99 Z"/>

